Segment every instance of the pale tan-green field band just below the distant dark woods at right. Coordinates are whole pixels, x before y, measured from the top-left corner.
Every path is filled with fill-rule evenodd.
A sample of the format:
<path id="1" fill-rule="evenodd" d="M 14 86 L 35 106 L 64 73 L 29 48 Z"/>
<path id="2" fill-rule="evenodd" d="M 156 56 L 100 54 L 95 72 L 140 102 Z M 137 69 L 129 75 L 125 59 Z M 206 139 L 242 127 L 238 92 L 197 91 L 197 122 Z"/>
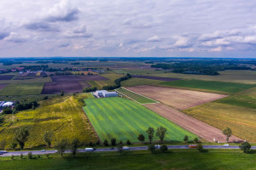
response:
<path id="1" fill-rule="evenodd" d="M 178 74 L 178 73 L 162 73 L 162 74 L 150 74 L 154 77 L 173 77 L 181 79 L 195 79 L 205 81 L 218 81 L 218 82 L 237 82 L 246 84 L 256 83 L 256 71 L 218 71 L 218 76 L 206 76 L 206 75 L 191 75 L 191 74 Z M 147 75 L 147 74 L 144 74 Z"/>

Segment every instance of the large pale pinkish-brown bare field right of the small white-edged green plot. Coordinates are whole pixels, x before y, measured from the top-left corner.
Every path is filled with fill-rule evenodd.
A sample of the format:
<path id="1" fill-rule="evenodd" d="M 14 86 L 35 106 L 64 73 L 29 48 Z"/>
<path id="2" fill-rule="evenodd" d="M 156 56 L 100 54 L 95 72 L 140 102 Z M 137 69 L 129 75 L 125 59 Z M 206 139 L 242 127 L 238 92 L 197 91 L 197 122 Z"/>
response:
<path id="1" fill-rule="evenodd" d="M 137 94 L 143 94 L 166 105 L 171 105 L 178 110 L 188 109 L 216 99 L 226 97 L 223 94 L 210 94 L 205 92 L 183 90 L 177 88 L 161 88 L 153 86 L 137 86 L 127 88 Z"/>

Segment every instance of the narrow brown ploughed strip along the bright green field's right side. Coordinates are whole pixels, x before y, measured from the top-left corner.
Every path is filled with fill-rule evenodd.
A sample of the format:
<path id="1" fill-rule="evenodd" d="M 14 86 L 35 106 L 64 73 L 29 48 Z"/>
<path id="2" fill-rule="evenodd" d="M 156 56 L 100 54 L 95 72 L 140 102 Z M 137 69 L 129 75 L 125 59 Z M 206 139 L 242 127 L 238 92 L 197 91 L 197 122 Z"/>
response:
<path id="1" fill-rule="evenodd" d="M 221 143 L 224 143 L 226 140 L 226 137 L 218 128 L 212 127 L 205 122 L 201 122 L 191 116 L 184 114 L 181 111 L 173 109 L 172 107 L 163 104 L 148 104 L 145 106 L 148 107 L 148 109 L 160 114 L 161 116 L 166 117 L 168 120 L 183 127 L 184 129 L 195 133 L 202 139 L 206 139 L 207 141 L 211 142 L 213 139 L 216 139 Z M 232 136 L 230 137 L 230 141 L 241 141 L 241 139 Z"/>

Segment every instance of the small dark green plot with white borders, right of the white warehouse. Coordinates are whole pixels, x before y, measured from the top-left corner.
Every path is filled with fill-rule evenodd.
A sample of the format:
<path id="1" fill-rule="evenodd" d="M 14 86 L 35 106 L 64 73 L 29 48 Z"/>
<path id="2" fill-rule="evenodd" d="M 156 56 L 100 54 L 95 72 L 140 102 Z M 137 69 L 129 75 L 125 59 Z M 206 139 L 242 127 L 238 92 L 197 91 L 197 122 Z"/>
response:
<path id="1" fill-rule="evenodd" d="M 140 104 L 156 103 L 156 101 L 154 101 L 153 99 L 145 98 L 142 95 L 135 94 L 135 93 L 131 92 L 130 90 L 126 90 L 125 88 L 118 88 L 117 91 L 121 94 L 125 94 L 126 96 L 128 96 L 131 99 L 134 99 L 135 101 L 137 101 Z"/>

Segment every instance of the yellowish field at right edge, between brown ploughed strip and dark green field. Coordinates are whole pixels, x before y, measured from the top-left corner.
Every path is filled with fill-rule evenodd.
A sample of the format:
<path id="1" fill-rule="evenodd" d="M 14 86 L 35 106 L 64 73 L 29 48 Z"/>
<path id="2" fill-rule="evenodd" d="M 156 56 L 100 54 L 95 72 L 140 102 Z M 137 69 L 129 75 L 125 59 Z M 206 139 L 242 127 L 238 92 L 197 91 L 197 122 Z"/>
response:
<path id="1" fill-rule="evenodd" d="M 256 109 L 211 102 L 183 112 L 219 129 L 230 127 L 237 137 L 256 142 Z"/>

